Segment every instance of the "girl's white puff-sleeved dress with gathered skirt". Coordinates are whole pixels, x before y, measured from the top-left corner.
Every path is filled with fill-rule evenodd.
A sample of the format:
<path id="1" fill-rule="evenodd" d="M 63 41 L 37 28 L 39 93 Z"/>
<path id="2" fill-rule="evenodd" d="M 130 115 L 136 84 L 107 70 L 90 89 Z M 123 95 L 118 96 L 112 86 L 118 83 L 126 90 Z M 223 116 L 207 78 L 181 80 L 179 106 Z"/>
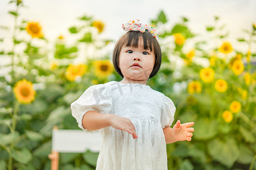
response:
<path id="1" fill-rule="evenodd" d="M 126 117 L 135 126 L 137 139 L 112 126 L 100 129 L 102 145 L 97 170 L 167 169 L 163 128 L 171 126 L 176 109 L 167 96 L 147 85 L 112 81 L 89 87 L 71 104 L 71 109 L 85 131 L 82 117 L 88 111 Z"/>

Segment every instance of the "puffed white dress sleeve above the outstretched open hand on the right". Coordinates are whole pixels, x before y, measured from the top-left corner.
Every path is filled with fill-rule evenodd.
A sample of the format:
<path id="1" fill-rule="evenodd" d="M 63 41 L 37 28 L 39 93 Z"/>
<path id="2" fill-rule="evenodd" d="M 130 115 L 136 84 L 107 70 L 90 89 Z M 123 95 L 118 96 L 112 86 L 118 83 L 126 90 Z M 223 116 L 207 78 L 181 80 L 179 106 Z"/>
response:
<path id="1" fill-rule="evenodd" d="M 174 121 L 174 114 L 176 107 L 172 100 L 167 96 L 162 96 L 162 113 L 161 113 L 161 126 L 162 128 L 170 127 Z"/>

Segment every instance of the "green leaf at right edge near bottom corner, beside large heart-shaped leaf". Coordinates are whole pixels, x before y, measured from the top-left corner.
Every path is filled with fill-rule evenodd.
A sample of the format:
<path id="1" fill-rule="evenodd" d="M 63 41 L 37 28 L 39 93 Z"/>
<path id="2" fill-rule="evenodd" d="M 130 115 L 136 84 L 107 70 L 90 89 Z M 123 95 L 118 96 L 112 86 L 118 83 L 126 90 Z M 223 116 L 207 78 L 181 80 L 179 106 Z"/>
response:
<path id="1" fill-rule="evenodd" d="M 237 161 L 241 164 L 250 164 L 253 161 L 253 151 L 245 145 L 240 145 L 240 155 Z"/>

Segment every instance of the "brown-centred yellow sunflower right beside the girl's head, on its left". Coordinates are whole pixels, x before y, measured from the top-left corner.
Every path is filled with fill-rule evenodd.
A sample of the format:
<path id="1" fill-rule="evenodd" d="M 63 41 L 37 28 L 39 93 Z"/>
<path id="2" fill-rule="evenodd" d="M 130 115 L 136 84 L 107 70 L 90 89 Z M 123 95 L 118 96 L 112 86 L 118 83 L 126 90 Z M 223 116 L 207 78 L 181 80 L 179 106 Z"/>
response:
<path id="1" fill-rule="evenodd" d="M 94 61 L 95 74 L 100 78 L 105 78 L 113 73 L 114 66 L 109 60 L 98 60 Z"/>

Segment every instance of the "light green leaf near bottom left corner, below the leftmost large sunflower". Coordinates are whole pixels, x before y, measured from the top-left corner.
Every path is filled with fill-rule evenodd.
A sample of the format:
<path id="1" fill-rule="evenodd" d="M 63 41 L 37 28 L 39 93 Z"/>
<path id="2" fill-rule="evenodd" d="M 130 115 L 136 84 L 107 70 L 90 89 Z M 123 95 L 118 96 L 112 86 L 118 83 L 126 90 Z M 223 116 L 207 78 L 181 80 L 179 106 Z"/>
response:
<path id="1" fill-rule="evenodd" d="M 11 150 L 11 156 L 18 162 L 27 164 L 32 159 L 32 154 L 27 148 L 22 150 Z"/>

